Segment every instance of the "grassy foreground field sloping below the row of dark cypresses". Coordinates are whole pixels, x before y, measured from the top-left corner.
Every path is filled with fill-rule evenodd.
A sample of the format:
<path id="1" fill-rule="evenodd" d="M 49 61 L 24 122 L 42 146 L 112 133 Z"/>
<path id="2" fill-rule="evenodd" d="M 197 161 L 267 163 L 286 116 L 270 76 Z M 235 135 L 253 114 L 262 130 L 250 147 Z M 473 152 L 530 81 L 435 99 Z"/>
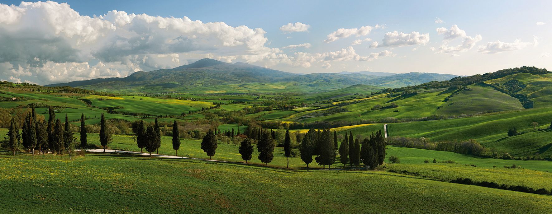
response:
<path id="1" fill-rule="evenodd" d="M 552 209 L 550 196 L 380 172 L 296 172 L 101 154 L 72 161 L 3 156 L 0 168 L 4 192 L 0 212 L 265 213 L 270 207 L 290 213 L 547 213 Z"/>

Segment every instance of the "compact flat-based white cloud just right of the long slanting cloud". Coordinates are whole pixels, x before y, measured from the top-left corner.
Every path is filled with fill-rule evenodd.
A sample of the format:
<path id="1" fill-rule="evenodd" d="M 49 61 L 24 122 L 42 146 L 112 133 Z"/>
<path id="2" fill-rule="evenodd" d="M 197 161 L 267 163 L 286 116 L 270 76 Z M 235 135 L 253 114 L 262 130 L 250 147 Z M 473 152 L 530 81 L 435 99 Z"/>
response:
<path id="1" fill-rule="evenodd" d="M 416 31 L 405 34 L 397 31 L 386 33 L 383 42 L 380 44 L 377 41 L 372 42 L 370 47 L 400 47 L 408 45 L 425 45 L 429 42 L 429 34 L 420 34 Z"/>

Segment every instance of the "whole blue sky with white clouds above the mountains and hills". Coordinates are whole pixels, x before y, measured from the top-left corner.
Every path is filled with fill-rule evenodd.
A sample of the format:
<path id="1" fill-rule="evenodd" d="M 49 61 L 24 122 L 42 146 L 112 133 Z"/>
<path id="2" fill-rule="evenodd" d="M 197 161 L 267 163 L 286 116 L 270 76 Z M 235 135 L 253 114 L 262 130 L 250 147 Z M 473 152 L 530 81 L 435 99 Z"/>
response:
<path id="1" fill-rule="evenodd" d="M 295 73 L 552 67 L 552 1 L 0 1 L 0 80 L 214 58 Z"/>

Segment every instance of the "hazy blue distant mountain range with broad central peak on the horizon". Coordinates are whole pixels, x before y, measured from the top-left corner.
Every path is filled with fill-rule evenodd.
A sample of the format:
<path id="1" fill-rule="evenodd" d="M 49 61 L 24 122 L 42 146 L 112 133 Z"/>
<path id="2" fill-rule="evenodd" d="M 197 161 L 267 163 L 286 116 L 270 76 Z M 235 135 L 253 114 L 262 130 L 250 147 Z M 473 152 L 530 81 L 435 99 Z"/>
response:
<path id="1" fill-rule="evenodd" d="M 210 58 L 189 65 L 156 71 L 138 71 L 124 78 L 99 78 L 47 86 L 79 87 L 121 93 L 248 93 L 322 92 L 355 84 L 379 87 L 404 87 L 454 78 L 451 74 L 385 72 L 296 74 Z"/>

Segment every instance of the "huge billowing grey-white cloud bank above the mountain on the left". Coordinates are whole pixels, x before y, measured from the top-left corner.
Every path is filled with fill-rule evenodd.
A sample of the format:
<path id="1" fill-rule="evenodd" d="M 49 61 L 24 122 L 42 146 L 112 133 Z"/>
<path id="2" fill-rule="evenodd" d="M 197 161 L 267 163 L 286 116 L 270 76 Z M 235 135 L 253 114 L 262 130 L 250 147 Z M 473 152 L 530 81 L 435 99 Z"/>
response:
<path id="1" fill-rule="evenodd" d="M 224 22 L 116 10 L 88 17 L 66 3 L 50 1 L 0 4 L 0 17 L 0 77 L 40 84 L 124 77 L 139 70 L 177 67 L 190 56 L 268 65 L 293 65 L 298 60 L 267 47 L 263 29 Z M 293 26 L 305 29 L 301 23 Z"/>

